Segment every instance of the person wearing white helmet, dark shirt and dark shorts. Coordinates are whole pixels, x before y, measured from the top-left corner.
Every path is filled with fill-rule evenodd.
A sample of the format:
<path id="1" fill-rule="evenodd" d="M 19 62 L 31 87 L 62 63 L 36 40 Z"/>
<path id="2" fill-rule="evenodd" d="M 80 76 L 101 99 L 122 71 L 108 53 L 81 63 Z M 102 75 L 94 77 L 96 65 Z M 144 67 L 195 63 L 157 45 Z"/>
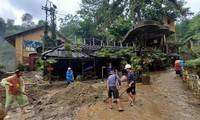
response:
<path id="1" fill-rule="evenodd" d="M 129 103 L 130 106 L 133 106 L 135 104 L 135 94 L 136 94 L 136 88 L 135 88 L 135 82 L 136 82 L 136 75 L 132 71 L 132 67 L 130 64 L 126 64 L 124 68 L 128 73 L 128 89 L 126 90 L 128 96 L 131 98 L 131 102 Z"/>

